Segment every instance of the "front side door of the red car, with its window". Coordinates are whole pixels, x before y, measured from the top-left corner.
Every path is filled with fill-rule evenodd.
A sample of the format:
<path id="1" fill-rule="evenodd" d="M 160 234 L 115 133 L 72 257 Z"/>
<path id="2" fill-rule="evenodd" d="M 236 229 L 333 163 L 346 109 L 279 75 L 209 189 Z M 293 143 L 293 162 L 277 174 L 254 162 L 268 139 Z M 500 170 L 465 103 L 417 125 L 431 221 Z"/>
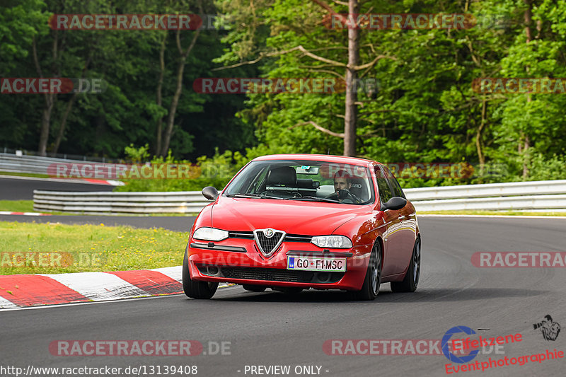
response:
<path id="1" fill-rule="evenodd" d="M 393 191 L 386 179 L 386 173 L 380 166 L 375 166 L 377 190 L 380 203 L 385 203 L 393 197 Z M 386 209 L 383 211 L 386 229 L 383 233 L 383 277 L 403 272 L 403 255 L 399 252 L 402 238 L 400 235 L 401 221 L 399 211 Z"/>

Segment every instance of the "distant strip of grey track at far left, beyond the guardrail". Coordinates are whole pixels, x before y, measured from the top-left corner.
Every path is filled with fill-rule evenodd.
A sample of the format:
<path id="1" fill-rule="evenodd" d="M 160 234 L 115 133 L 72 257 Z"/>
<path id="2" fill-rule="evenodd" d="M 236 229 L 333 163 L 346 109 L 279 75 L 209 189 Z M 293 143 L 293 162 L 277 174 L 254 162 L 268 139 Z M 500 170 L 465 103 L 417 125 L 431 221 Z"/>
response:
<path id="1" fill-rule="evenodd" d="M 62 182 L 43 178 L 0 178 L 0 200 L 31 200 L 33 190 L 53 191 L 112 191 L 114 186 L 94 183 Z"/>

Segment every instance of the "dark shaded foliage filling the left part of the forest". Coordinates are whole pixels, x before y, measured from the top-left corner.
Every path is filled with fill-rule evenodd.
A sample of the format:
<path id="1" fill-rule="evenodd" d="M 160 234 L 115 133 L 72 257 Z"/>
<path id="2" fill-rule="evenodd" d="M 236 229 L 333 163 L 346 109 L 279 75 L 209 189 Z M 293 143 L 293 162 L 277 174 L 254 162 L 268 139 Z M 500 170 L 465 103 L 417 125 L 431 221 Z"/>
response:
<path id="1" fill-rule="evenodd" d="M 178 51 L 175 30 L 50 30 L 47 20 L 54 13 L 141 14 L 200 13 L 198 1 L 4 1 L 0 4 L 0 76 L 37 77 L 37 61 L 45 77 L 62 76 L 103 79 L 103 93 L 81 93 L 71 106 L 58 153 L 120 158 L 129 144 L 149 144 L 154 152 L 159 117 L 166 117 L 175 91 Z M 216 13 L 212 0 L 203 0 L 203 11 Z M 159 50 L 168 33 L 163 74 L 163 103 L 156 103 L 160 70 Z M 183 30 L 183 45 L 193 30 Z M 201 30 L 187 58 L 170 149 L 178 158 L 192 158 L 221 151 L 241 150 L 255 144 L 253 125 L 243 124 L 234 114 L 243 107 L 238 95 L 204 95 L 192 90 L 192 81 L 214 76 L 212 60 L 221 56 L 225 30 Z M 58 54 L 52 49 L 57 42 Z M 253 67 L 241 69 L 253 76 Z M 47 151 L 54 148 L 67 106 L 73 95 L 56 96 L 51 115 Z M 0 95 L 0 146 L 37 150 L 45 101 L 37 94 Z"/>

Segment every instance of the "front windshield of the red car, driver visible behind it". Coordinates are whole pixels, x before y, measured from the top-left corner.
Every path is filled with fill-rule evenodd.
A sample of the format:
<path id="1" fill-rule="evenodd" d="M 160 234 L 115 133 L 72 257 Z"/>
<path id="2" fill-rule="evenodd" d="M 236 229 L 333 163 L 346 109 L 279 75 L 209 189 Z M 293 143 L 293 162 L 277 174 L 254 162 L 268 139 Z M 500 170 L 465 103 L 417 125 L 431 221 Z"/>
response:
<path id="1" fill-rule="evenodd" d="M 374 185 L 365 166 L 326 161 L 252 161 L 222 195 L 368 204 L 374 202 Z"/>

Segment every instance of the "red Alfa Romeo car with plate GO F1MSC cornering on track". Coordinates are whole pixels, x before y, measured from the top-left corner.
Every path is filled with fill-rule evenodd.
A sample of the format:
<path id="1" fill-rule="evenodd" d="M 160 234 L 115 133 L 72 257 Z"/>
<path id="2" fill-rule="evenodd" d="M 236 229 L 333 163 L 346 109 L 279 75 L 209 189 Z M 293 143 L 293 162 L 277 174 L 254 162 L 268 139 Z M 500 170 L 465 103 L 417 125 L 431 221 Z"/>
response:
<path id="1" fill-rule="evenodd" d="M 255 158 L 190 231 L 183 289 L 211 298 L 219 282 L 248 291 L 342 289 L 373 300 L 381 283 L 417 289 L 415 207 L 386 166 L 362 158 L 284 154 Z"/>

